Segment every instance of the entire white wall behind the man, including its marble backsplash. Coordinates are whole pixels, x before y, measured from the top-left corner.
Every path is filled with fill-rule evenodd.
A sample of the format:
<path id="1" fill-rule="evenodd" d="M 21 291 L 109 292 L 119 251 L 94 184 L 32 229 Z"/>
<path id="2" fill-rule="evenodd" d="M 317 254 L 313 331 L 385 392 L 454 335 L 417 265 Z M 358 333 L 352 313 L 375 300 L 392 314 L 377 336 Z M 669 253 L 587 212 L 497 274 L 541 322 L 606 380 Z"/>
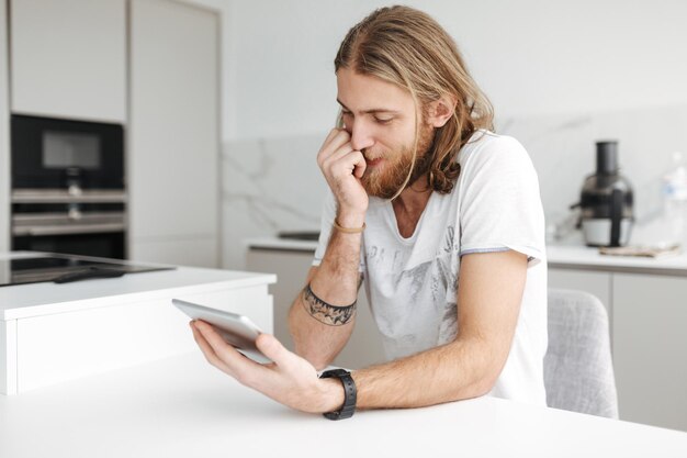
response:
<path id="1" fill-rule="evenodd" d="M 646 228 L 651 235 L 661 174 L 672 150 L 687 148 L 686 1 L 407 3 L 455 37 L 495 104 L 497 131 L 527 147 L 550 224 L 570 216 L 585 175 L 594 171 L 594 142 L 618 138 L 620 164 L 637 191 L 635 234 Z M 230 29 L 223 266 L 243 268 L 243 239 L 318 227 L 325 185 L 315 154 L 337 110 L 334 56 L 351 25 L 391 3 L 223 4 Z"/>

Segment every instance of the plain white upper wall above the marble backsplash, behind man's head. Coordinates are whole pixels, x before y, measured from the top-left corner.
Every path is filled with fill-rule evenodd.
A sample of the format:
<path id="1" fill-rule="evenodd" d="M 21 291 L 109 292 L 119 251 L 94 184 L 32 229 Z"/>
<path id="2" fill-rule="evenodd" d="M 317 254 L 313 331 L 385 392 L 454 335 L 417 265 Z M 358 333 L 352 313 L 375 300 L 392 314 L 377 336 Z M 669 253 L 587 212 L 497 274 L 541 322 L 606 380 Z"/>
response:
<path id="1" fill-rule="evenodd" d="M 375 7 L 395 2 L 221 3 L 233 47 L 225 67 L 234 67 L 225 70 L 224 133 L 233 139 L 326 132 L 336 114 L 338 44 Z M 405 3 L 453 35 L 498 116 L 687 102 L 685 1 Z"/>

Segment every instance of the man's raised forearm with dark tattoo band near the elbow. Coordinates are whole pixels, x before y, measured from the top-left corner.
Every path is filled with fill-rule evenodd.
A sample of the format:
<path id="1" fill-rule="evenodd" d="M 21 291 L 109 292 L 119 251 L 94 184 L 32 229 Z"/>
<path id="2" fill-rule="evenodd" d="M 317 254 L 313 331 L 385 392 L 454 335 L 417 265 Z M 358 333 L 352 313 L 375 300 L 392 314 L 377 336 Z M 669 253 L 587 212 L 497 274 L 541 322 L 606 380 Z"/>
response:
<path id="1" fill-rule="evenodd" d="M 361 239 L 333 230 L 322 264 L 289 313 L 296 353 L 318 369 L 331 362 L 352 332 Z"/>

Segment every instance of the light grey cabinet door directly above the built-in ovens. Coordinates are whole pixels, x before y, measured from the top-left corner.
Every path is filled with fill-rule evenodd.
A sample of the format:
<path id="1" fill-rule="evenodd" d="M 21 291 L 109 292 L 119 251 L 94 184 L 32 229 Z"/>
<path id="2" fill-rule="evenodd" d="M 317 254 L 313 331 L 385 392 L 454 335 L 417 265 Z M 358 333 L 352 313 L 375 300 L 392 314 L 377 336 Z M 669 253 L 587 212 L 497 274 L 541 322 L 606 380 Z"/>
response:
<path id="1" fill-rule="evenodd" d="M 123 123 L 126 1 L 12 0 L 12 111 Z"/>

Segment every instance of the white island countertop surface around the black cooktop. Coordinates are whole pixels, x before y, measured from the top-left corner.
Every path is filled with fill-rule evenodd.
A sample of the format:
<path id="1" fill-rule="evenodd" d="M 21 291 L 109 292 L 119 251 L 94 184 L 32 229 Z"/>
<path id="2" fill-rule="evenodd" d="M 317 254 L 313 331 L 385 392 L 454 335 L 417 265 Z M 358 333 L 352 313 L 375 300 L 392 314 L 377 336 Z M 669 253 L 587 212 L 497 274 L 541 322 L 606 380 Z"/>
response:
<path id="1" fill-rule="evenodd" d="M 35 256 L 35 254 L 0 254 L 0 260 Z M 126 264 L 126 262 L 125 262 Z M 131 262 L 137 264 L 137 262 Z M 149 262 L 144 262 L 149 265 Z M 230 270 L 178 267 L 173 270 L 127 273 L 120 278 L 92 279 L 72 283 L 52 282 L 0 288 L 0 320 L 16 320 L 49 313 L 116 305 L 123 295 L 133 300 L 150 300 L 171 293 L 183 295 L 203 284 L 205 291 L 274 283 L 277 276 Z M 210 287 L 210 289 L 207 288 Z M 131 301 L 129 301 L 131 302 Z"/>

